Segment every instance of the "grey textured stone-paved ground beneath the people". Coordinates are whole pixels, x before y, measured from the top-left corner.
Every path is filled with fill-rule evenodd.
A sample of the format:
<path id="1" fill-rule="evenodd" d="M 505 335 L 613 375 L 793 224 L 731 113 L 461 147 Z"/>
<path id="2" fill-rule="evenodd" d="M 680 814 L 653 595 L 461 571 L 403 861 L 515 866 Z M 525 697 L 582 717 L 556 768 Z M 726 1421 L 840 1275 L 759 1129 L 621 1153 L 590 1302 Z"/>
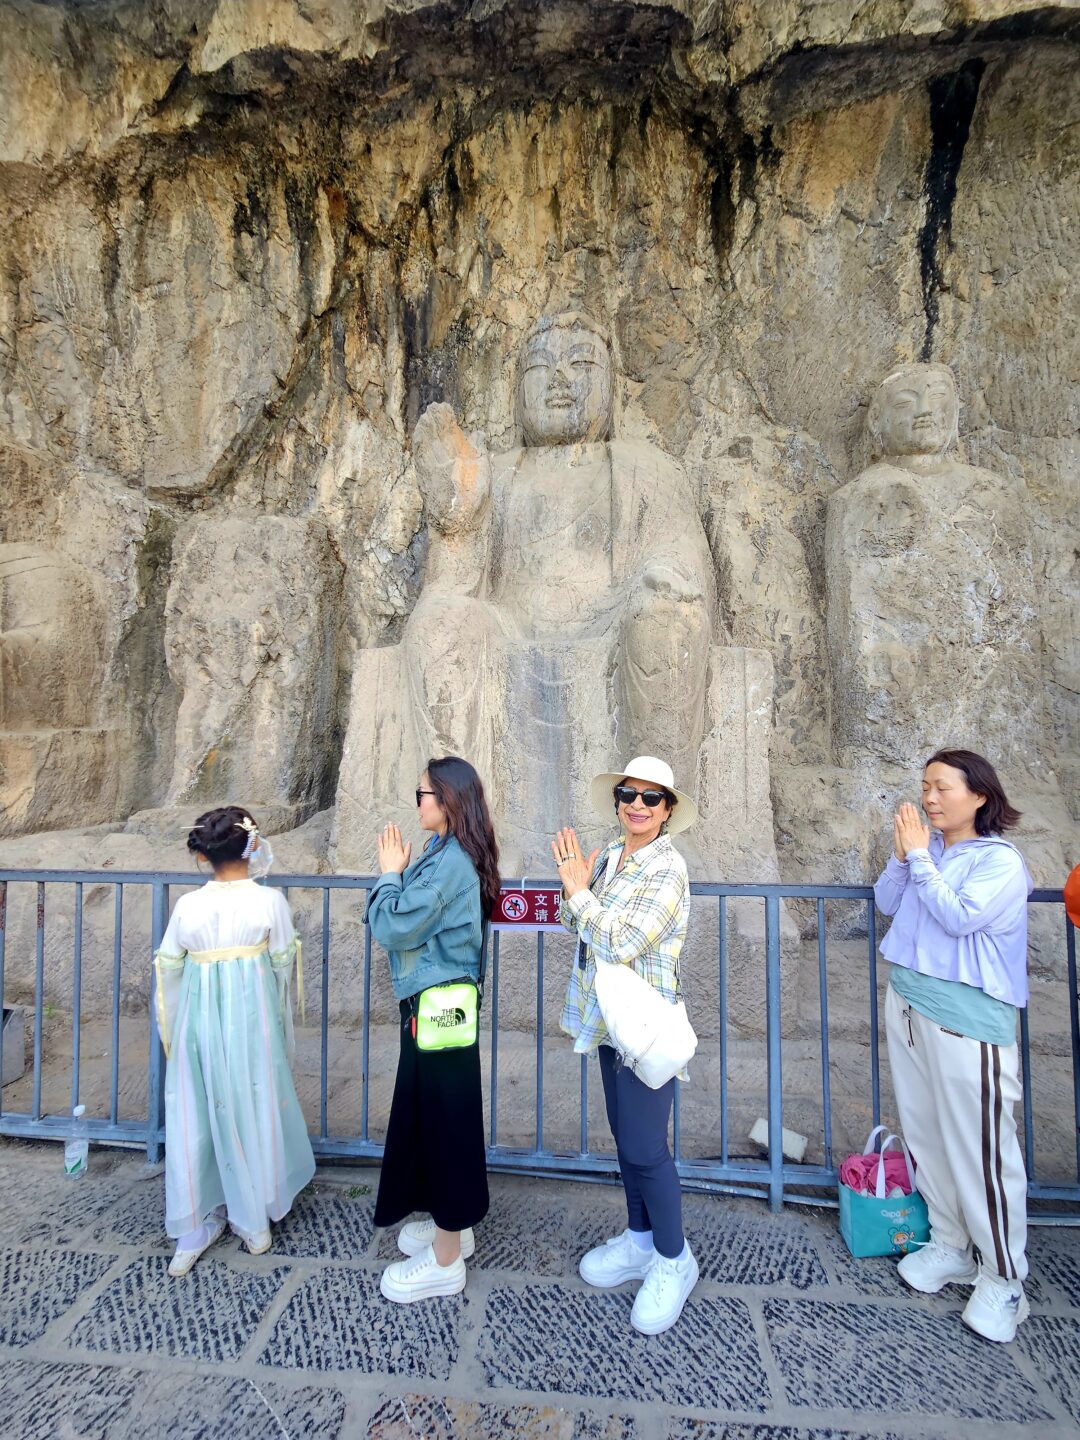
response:
<path id="1" fill-rule="evenodd" d="M 576 1257 L 619 1191 L 492 1179 L 465 1293 L 379 1296 L 393 1236 L 372 1169 L 320 1172 L 274 1251 L 220 1243 L 166 1274 L 163 1181 L 0 1142 L 0 1436 L 17 1440 L 945 1440 L 1080 1433 L 1080 1234 L 1035 1230 L 1032 1318 L 992 1346 L 962 1292 L 906 1293 L 835 1217 L 687 1197 L 701 1283 L 667 1335 L 629 1326 Z"/>

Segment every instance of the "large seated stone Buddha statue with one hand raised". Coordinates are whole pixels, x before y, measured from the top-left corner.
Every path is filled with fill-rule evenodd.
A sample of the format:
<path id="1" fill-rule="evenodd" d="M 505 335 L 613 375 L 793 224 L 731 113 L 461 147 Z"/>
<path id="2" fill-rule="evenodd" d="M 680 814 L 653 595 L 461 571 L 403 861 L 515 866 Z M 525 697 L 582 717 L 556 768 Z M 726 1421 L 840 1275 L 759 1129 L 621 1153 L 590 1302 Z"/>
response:
<path id="1" fill-rule="evenodd" d="M 611 438 L 612 390 L 598 325 L 550 315 L 521 350 L 520 448 L 478 454 L 446 405 L 413 438 L 429 554 L 403 638 L 406 723 L 420 765 L 455 750 L 513 791 L 537 847 L 572 772 L 612 746 L 670 755 L 693 783 L 701 742 L 708 541 L 681 467 Z"/>

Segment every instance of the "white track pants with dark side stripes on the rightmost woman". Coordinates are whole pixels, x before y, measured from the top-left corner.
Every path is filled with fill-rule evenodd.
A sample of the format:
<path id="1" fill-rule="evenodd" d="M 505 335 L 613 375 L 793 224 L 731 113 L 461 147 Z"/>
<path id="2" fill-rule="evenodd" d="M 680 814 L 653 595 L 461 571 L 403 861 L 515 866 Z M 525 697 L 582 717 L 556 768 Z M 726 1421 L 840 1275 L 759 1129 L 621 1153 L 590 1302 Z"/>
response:
<path id="1" fill-rule="evenodd" d="M 1014 1117 L 1018 1047 L 943 1030 L 891 985 L 886 1035 L 900 1126 L 935 1238 L 956 1250 L 973 1241 L 991 1273 L 1022 1280 L 1028 1221 Z"/>

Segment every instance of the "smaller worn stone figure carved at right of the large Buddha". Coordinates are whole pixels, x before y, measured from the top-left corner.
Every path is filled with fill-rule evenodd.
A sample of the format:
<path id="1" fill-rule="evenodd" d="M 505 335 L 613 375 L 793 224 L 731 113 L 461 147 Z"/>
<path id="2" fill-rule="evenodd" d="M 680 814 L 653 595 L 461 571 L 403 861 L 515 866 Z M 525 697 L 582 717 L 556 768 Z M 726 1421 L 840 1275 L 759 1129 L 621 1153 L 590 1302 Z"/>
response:
<path id="1" fill-rule="evenodd" d="M 910 364 L 870 408 L 880 461 L 828 507 L 832 726 L 844 763 L 940 744 L 1024 760 L 1041 716 L 1022 482 L 949 456 L 952 370 Z"/>

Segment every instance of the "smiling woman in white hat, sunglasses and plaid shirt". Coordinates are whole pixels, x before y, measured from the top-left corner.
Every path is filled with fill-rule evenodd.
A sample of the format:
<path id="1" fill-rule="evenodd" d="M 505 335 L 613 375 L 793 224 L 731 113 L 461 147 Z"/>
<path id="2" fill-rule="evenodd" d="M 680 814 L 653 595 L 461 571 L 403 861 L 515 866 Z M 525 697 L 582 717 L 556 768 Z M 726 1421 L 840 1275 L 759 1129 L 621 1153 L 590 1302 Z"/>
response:
<path id="1" fill-rule="evenodd" d="M 697 806 L 675 789 L 671 766 L 651 755 L 635 756 L 619 772 L 598 775 L 592 801 L 603 819 L 615 811 L 622 835 L 588 860 L 570 828 L 560 829 L 552 844 L 563 883 L 559 917 L 579 940 L 562 1028 L 575 1037 L 575 1051 L 599 1053 L 628 1225 L 583 1256 L 579 1270 L 583 1280 L 602 1289 L 642 1280 L 631 1323 L 658 1335 L 675 1323 L 697 1283 L 697 1260 L 683 1234 L 678 1172 L 668 1149 L 677 1080 L 651 1090 L 619 1063 L 595 981 L 598 963 L 632 965 L 665 999 L 681 999 L 678 956 L 690 919 L 690 878 L 671 837 L 694 824 Z"/>

